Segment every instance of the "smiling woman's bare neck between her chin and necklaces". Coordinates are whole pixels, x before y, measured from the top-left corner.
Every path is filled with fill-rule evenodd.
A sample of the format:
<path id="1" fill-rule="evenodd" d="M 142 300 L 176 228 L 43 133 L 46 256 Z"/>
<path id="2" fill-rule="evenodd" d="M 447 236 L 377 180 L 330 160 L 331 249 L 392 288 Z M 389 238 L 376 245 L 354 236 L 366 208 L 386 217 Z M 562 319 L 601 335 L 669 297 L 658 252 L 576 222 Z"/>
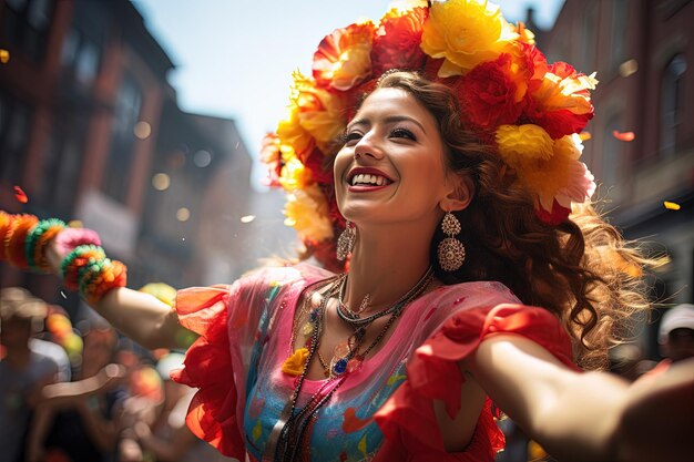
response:
<path id="1" fill-rule="evenodd" d="M 369 296 L 369 310 L 395 302 L 425 275 L 429 267 L 431 232 L 422 226 L 360 229 L 349 261 L 345 302 L 359 308 Z"/>

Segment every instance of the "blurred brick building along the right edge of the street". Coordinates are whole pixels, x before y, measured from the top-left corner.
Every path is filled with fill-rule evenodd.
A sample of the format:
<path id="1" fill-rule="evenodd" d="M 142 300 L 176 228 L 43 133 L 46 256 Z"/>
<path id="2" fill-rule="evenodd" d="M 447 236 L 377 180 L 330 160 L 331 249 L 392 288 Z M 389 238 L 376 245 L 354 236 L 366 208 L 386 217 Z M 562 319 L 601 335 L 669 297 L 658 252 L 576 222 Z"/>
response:
<path id="1" fill-rule="evenodd" d="M 691 0 L 567 0 L 540 43 L 550 62 L 598 72 L 583 155 L 609 220 L 659 257 L 666 304 L 694 299 L 693 22 Z"/>

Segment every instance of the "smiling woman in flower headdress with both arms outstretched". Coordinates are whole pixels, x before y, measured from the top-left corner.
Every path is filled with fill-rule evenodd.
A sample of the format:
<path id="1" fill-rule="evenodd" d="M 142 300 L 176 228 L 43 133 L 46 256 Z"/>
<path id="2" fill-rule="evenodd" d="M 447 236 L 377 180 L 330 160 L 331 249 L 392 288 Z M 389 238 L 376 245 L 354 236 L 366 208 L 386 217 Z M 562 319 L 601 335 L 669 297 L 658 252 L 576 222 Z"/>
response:
<path id="1" fill-rule="evenodd" d="M 438 40 L 448 25 L 483 52 L 438 50 L 463 43 Z M 594 185 L 576 133 L 594 81 L 548 66 L 529 37 L 486 2 L 453 0 L 322 42 L 268 146 L 295 189 L 293 222 L 297 202 L 326 201 L 334 181 L 346 273 L 268 267 L 182 290 L 171 311 L 122 287 L 102 250 L 68 255 L 96 242 L 84 232 L 55 232 L 52 267 L 62 260 L 67 281 L 144 346 L 174 346 L 178 322 L 202 335 L 174 379 L 200 388 L 193 432 L 237 459 L 490 461 L 503 444 L 497 407 L 561 460 L 684 459 L 692 362 L 631 387 L 573 363 L 598 363 L 612 322 L 645 306 L 623 271 L 644 260 L 582 204 Z M 493 82 L 490 70 L 514 80 L 482 113 L 486 93 L 470 85 Z M 575 101 L 552 112 L 562 97 Z M 331 158 L 339 132 L 329 174 L 320 154 Z M 320 239 L 302 237 L 327 261 Z M 675 405 L 684 412 L 661 414 Z"/>

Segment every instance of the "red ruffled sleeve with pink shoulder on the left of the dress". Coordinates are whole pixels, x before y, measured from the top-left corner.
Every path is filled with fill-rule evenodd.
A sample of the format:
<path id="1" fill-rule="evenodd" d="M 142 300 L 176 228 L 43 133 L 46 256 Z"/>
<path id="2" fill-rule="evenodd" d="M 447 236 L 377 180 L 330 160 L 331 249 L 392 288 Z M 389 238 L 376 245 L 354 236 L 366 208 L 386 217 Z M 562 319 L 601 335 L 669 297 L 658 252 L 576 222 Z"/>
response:
<path id="1" fill-rule="evenodd" d="M 177 292 L 178 322 L 200 337 L 172 379 L 198 389 L 186 423 L 222 454 L 246 460 L 246 387 L 257 363 L 273 358 L 268 339 L 277 337 L 277 319 L 289 312 L 306 281 L 322 277 L 323 273 L 310 266 L 265 267 L 231 286 Z"/>

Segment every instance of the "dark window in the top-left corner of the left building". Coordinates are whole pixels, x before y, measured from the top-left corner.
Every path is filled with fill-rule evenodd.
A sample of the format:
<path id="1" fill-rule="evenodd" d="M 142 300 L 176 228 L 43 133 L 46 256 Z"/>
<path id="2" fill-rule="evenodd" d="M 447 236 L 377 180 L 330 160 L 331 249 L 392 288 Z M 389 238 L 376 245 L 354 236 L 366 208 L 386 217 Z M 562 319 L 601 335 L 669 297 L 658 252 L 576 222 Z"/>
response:
<path id="1" fill-rule="evenodd" d="M 2 38 L 33 61 L 45 53 L 55 0 L 4 0 Z"/>

